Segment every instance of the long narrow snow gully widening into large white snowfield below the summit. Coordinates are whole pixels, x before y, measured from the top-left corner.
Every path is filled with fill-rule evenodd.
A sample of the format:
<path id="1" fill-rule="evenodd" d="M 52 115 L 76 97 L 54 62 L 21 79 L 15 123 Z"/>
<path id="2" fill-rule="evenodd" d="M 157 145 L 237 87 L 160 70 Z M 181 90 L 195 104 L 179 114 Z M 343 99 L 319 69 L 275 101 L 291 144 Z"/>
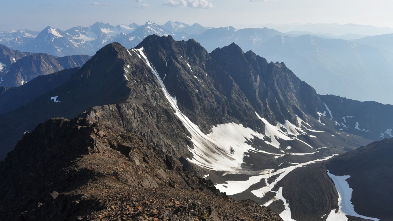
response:
<path id="1" fill-rule="evenodd" d="M 156 76 L 158 82 L 161 84 L 165 97 L 175 110 L 174 113 L 191 134 L 190 139 L 193 142 L 194 148 L 189 147 L 189 151 L 191 151 L 194 156 L 192 159 L 187 160 L 204 168 L 237 173 L 237 171 L 241 169 L 241 164 L 245 156 L 244 153 L 248 151 L 267 153 L 257 150 L 245 143 L 246 139 L 251 140 L 255 137 L 263 139 L 264 135 L 250 128 L 245 128 L 241 124 L 226 123 L 217 125 L 212 128 L 212 133 L 204 134 L 197 125 L 191 122 L 191 120 L 179 110 L 176 104 L 176 98 L 172 98 L 166 90 L 156 69 L 143 53 L 143 48 L 135 50 L 139 52 L 141 59 L 143 57 L 147 66 L 151 68 L 154 76 Z"/>

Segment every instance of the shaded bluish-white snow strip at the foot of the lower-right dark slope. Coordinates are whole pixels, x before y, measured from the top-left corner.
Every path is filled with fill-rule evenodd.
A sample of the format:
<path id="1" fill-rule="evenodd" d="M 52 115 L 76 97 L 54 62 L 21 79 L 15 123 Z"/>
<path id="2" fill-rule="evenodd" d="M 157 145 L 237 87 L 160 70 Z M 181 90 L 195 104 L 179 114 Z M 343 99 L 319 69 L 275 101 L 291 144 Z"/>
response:
<path id="1" fill-rule="evenodd" d="M 335 210 L 332 210 L 329 216 L 327 217 L 327 221 L 341 221 L 341 220 L 348 220 L 345 215 L 352 215 L 355 217 L 361 217 L 364 219 L 371 219 L 378 221 L 379 219 L 376 218 L 371 218 L 371 217 L 366 217 L 364 215 L 359 215 L 355 212 L 353 208 L 353 204 L 351 202 L 352 198 L 352 191 L 353 189 L 349 187 L 349 184 L 346 179 L 348 179 L 349 175 L 344 175 L 344 176 L 336 176 L 331 173 L 329 173 L 329 170 L 327 171 L 327 175 L 333 180 L 334 186 L 336 186 L 336 190 L 338 192 L 338 205 L 339 205 L 339 211 L 336 214 Z"/>

